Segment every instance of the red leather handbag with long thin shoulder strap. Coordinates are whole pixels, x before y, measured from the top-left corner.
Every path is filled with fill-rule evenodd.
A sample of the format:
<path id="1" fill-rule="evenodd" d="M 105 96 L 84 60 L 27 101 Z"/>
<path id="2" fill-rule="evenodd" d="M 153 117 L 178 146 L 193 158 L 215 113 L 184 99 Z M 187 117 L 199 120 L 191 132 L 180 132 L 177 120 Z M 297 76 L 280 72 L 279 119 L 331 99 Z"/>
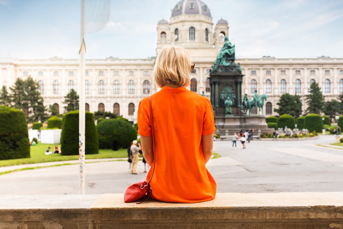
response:
<path id="1" fill-rule="evenodd" d="M 151 108 L 151 96 L 149 96 L 149 106 L 150 106 L 150 123 L 151 123 L 151 133 L 152 133 L 152 148 L 154 152 L 154 167 L 151 174 L 151 178 L 149 182 L 146 181 L 146 178 L 138 183 L 131 184 L 124 194 L 124 202 L 130 203 L 130 202 L 137 202 L 137 204 L 143 203 L 147 199 L 150 198 L 152 194 L 152 187 L 150 186 L 150 181 L 152 179 L 152 176 L 154 175 L 155 171 L 155 163 L 156 163 L 156 155 L 155 155 L 155 137 L 154 137 L 154 124 L 152 120 L 152 108 Z M 143 201 L 139 201 L 143 196 L 147 194 L 147 197 Z"/>

